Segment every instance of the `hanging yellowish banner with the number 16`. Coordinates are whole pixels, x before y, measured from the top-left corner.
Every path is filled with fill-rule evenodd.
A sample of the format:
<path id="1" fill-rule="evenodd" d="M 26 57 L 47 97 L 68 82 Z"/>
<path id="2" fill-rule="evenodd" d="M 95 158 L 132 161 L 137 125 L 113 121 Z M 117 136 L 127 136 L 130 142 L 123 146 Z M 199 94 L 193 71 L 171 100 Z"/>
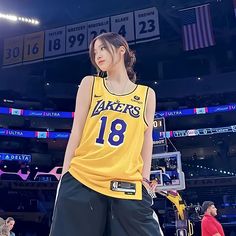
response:
<path id="1" fill-rule="evenodd" d="M 44 32 L 26 34 L 24 37 L 24 62 L 43 59 Z"/>

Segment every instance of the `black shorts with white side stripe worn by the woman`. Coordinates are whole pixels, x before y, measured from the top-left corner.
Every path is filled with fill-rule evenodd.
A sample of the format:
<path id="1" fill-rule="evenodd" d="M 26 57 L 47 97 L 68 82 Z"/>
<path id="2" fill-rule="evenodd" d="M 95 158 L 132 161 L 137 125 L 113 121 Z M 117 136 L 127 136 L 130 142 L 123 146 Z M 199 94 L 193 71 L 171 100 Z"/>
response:
<path id="1" fill-rule="evenodd" d="M 102 195 L 69 172 L 61 180 L 50 236 L 162 236 L 152 198 L 142 200 Z"/>

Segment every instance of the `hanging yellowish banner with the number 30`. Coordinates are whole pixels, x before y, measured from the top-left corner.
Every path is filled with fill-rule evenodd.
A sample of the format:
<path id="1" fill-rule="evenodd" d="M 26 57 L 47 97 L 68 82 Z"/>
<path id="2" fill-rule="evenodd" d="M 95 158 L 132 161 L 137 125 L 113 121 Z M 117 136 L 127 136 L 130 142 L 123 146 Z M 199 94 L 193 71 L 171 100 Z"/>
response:
<path id="1" fill-rule="evenodd" d="M 24 36 L 17 36 L 4 40 L 3 65 L 22 63 L 23 38 Z"/>

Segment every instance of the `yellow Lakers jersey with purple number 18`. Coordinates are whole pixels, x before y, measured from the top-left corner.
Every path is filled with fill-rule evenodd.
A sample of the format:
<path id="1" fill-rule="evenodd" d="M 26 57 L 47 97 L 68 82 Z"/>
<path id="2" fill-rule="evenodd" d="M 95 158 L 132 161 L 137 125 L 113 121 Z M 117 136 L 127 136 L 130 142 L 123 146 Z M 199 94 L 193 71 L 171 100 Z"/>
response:
<path id="1" fill-rule="evenodd" d="M 142 199 L 141 150 L 148 87 L 136 85 L 125 95 L 112 94 L 95 77 L 91 105 L 69 172 L 101 194 Z"/>

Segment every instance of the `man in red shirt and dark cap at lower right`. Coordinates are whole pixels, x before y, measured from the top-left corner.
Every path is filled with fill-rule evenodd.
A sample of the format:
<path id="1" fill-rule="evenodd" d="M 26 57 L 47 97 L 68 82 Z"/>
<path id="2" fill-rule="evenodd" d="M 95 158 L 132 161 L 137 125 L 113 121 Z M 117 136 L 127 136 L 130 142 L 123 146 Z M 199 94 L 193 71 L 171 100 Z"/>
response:
<path id="1" fill-rule="evenodd" d="M 214 202 L 203 202 L 202 212 L 204 213 L 201 222 L 202 236 L 225 236 L 223 227 L 215 218 L 217 215 L 217 208 L 215 207 Z"/>

